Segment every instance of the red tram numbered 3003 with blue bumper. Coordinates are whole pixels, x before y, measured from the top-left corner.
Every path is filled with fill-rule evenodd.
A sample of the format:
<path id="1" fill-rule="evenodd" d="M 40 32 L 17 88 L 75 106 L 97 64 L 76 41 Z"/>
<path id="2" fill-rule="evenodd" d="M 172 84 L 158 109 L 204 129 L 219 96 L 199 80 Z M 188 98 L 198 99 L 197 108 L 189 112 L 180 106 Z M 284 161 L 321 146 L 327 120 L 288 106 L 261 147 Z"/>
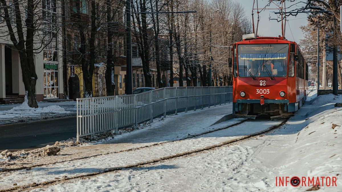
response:
<path id="1" fill-rule="evenodd" d="M 289 115 L 306 100 L 308 66 L 283 37 L 243 36 L 233 45 L 233 114 Z"/>

